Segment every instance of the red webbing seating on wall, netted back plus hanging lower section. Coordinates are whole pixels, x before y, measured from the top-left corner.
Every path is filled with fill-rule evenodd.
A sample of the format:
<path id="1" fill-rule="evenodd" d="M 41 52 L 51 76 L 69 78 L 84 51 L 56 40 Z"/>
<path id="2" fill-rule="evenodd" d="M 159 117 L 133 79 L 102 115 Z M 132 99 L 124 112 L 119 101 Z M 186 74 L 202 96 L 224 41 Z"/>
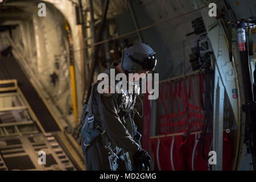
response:
<path id="1" fill-rule="evenodd" d="M 204 111 L 201 109 L 200 97 L 204 97 L 204 93 L 203 74 L 186 77 L 180 81 L 160 83 L 159 101 L 163 106 L 163 113 L 159 117 L 160 135 L 200 131 L 204 121 Z M 176 140 L 179 137 L 180 140 Z M 195 135 L 193 135 L 193 137 L 195 138 Z M 207 169 L 205 168 L 203 156 L 200 155 L 199 145 L 197 144 L 195 147 L 196 140 L 194 138 L 191 140 L 189 136 L 183 137 L 182 135 L 177 136 L 177 138 L 175 136 L 173 146 L 170 138 L 160 138 L 160 144 L 156 142 L 155 139 L 151 139 L 152 149 L 154 148 L 154 156 L 158 156 L 159 159 L 159 167 L 167 170 L 173 169 L 172 166 L 174 166 L 176 170 L 191 169 L 192 155 L 189 154 L 194 151 L 194 168 Z M 159 147 L 157 147 L 158 144 Z M 208 148 L 207 145 L 207 150 Z M 159 153 L 160 155 L 156 155 L 157 149 L 161 151 Z M 167 156 L 167 154 L 170 156 Z M 176 161 L 178 158 L 180 160 Z"/>

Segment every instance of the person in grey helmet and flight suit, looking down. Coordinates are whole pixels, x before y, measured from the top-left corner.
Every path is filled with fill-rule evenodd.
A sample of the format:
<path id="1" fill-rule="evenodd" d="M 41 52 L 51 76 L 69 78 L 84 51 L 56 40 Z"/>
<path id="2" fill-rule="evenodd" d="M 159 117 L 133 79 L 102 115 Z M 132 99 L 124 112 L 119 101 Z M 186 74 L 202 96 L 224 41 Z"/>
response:
<path id="1" fill-rule="evenodd" d="M 153 49 L 145 43 L 135 43 L 122 51 L 121 63 L 113 63 L 110 69 L 115 69 L 115 74 L 146 74 L 154 70 L 155 65 Z M 110 69 L 105 71 L 108 76 Z M 133 121 L 135 93 L 138 92 L 130 94 L 122 90 L 121 93 L 99 93 L 97 87 L 100 82 L 93 85 L 88 104 L 84 104 L 82 112 L 80 133 L 86 170 L 149 169 L 151 158 L 141 148 L 141 134 Z M 117 83 L 115 81 L 115 85 Z M 109 85 L 109 88 L 113 89 L 113 85 Z"/>

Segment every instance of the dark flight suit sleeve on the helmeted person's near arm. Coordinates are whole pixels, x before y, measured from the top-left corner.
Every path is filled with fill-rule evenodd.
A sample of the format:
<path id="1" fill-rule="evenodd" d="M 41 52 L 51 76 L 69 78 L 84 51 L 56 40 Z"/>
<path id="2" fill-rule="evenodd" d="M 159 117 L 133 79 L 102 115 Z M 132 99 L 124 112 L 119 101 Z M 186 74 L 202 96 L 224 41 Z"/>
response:
<path id="1" fill-rule="evenodd" d="M 97 91 L 96 91 L 97 92 Z M 139 150 L 126 127 L 121 122 L 118 113 L 118 94 L 100 94 L 97 92 L 96 100 L 100 112 L 102 127 L 106 134 L 119 148 L 129 151 L 131 155 Z"/>

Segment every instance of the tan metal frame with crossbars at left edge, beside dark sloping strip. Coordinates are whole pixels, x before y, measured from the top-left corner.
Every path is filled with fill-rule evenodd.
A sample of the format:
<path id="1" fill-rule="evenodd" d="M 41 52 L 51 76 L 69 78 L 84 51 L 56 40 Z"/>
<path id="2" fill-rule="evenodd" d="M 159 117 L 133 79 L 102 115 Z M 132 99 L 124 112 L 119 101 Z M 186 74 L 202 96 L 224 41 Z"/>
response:
<path id="1" fill-rule="evenodd" d="M 16 80 L 0 81 L 0 137 L 44 133 Z"/>

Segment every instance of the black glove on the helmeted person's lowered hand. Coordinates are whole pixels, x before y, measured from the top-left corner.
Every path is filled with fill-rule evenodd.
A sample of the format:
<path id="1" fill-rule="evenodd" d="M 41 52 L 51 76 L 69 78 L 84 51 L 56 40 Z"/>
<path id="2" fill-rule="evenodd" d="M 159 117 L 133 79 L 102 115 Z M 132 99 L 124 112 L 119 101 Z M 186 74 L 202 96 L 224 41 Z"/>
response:
<path id="1" fill-rule="evenodd" d="M 148 155 L 147 151 L 143 150 L 140 148 L 138 152 L 136 152 L 133 155 L 134 163 L 135 163 L 135 168 L 138 171 L 142 170 L 142 164 L 144 165 L 144 168 L 148 171 L 150 168 L 151 164 L 151 157 Z"/>

